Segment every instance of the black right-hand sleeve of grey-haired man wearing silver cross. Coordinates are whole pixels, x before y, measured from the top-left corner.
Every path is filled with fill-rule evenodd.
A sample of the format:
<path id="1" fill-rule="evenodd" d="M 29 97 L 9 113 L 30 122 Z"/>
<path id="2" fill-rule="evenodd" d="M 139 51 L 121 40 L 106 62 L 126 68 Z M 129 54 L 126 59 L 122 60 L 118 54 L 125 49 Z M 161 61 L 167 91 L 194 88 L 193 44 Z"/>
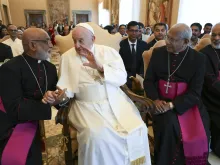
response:
<path id="1" fill-rule="evenodd" d="M 197 68 L 189 81 L 187 92 L 183 95 L 177 96 L 173 101 L 177 113 L 183 114 L 194 105 L 199 105 L 205 76 L 205 63 L 205 56 L 199 54 L 196 60 Z"/>

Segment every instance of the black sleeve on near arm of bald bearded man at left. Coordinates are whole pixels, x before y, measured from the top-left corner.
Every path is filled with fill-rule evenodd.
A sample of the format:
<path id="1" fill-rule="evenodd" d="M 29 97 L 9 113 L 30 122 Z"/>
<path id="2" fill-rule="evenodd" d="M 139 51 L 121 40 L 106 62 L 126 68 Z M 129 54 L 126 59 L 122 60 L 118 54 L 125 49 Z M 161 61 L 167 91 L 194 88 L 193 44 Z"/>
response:
<path id="1" fill-rule="evenodd" d="M 7 63 L 6 63 L 7 64 Z M 3 65 L 0 68 L 0 96 L 7 115 L 14 121 L 51 119 L 51 107 L 23 96 L 21 74 Z"/>

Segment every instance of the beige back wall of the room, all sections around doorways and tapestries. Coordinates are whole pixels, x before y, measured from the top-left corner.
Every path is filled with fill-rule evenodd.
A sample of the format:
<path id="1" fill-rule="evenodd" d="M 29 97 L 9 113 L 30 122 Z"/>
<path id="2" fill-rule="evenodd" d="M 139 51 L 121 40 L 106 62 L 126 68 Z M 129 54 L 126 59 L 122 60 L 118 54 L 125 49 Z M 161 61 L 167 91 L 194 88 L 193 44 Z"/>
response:
<path id="1" fill-rule="evenodd" d="M 98 24 L 98 1 L 99 0 L 69 0 L 70 2 L 70 20 L 72 20 L 72 10 L 91 10 L 92 11 L 92 22 Z M 178 8 L 180 0 L 173 0 L 171 25 L 177 22 L 178 18 Z M 140 22 L 145 23 L 147 17 L 147 3 L 149 0 L 140 0 L 141 11 L 140 11 Z M 15 25 L 26 25 L 24 10 L 47 10 L 47 0 L 0 0 L 1 4 L 1 15 L 3 16 L 2 4 L 10 6 L 11 21 Z M 49 21 L 49 16 L 46 12 L 47 24 Z M 4 20 L 3 20 L 4 21 Z"/>

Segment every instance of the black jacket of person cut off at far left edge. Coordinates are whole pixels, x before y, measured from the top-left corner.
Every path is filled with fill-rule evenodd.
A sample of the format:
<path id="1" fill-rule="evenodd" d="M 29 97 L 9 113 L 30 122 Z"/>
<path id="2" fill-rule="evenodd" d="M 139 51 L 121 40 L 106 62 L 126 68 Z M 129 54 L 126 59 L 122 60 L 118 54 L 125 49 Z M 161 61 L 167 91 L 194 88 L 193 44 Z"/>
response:
<path id="1" fill-rule="evenodd" d="M 0 62 L 4 62 L 5 59 L 13 58 L 11 47 L 0 43 Z"/>

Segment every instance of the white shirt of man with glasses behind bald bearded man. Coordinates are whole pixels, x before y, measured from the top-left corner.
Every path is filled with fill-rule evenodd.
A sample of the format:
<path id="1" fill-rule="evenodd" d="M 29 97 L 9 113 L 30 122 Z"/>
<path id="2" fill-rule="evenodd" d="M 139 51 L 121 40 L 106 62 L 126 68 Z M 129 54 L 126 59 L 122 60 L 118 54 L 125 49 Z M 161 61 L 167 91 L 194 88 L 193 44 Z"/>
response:
<path id="1" fill-rule="evenodd" d="M 2 43 L 11 47 L 13 57 L 21 55 L 24 52 L 22 41 L 18 38 L 16 38 L 14 41 L 9 38 Z"/>

